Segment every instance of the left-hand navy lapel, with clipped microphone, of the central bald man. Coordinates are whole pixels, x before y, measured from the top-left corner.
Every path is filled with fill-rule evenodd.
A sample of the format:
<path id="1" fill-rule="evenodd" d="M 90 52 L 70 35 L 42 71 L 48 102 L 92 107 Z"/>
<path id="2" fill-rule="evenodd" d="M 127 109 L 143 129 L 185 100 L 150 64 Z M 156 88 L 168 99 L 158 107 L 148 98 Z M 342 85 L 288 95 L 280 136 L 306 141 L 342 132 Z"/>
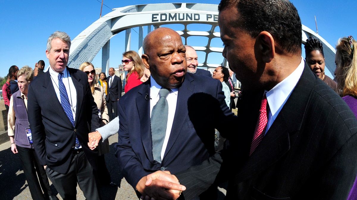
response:
<path id="1" fill-rule="evenodd" d="M 151 162 L 154 162 L 150 126 L 150 100 L 146 98 L 146 94 L 150 96 L 150 79 L 143 83 L 143 85 L 145 86 L 140 88 L 138 91 L 139 96 L 136 98 L 136 107 L 140 119 L 140 136 L 146 155 L 150 158 Z"/>

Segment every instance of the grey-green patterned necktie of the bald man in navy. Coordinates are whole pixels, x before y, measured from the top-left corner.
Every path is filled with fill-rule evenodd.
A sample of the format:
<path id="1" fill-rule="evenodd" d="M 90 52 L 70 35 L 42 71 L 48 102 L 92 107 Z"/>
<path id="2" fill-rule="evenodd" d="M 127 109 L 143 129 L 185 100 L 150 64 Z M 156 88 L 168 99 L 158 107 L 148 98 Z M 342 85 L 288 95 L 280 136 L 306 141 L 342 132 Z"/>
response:
<path id="1" fill-rule="evenodd" d="M 152 138 L 152 156 L 154 160 L 161 163 L 161 149 L 164 143 L 167 127 L 167 115 L 169 114 L 169 105 L 167 103 L 167 95 L 170 89 L 161 88 L 159 91 L 159 101 L 155 104 L 151 111 L 151 138 Z"/>

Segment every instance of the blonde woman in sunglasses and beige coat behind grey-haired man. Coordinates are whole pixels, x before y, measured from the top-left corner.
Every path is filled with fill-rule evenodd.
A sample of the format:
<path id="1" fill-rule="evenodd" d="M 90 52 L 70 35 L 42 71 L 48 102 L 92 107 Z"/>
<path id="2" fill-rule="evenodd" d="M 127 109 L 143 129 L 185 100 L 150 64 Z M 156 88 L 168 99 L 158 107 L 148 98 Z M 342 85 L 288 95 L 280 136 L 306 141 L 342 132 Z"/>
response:
<path id="1" fill-rule="evenodd" d="M 100 119 L 99 124 L 100 126 L 104 126 L 109 122 L 109 115 L 108 115 L 108 109 L 104 98 L 105 92 L 102 86 L 100 86 L 98 83 L 94 66 L 90 62 L 84 62 L 81 64 L 79 69 L 88 75 L 88 83 L 92 90 L 94 102 L 97 104 L 97 108 L 98 108 L 98 115 Z M 97 149 L 99 152 L 97 178 L 99 178 L 99 181 L 102 185 L 115 186 L 116 184 L 111 181 L 110 174 L 108 172 L 104 160 L 104 154 L 109 153 L 109 141 L 105 140 L 101 142 Z"/>

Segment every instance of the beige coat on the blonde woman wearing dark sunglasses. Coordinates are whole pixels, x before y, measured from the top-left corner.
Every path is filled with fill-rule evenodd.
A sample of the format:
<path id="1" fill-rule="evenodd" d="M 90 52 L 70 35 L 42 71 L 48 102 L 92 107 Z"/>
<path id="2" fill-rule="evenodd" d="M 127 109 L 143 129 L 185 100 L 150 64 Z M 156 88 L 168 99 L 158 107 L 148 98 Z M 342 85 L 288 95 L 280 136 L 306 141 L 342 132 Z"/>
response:
<path id="1" fill-rule="evenodd" d="M 105 102 L 104 90 L 102 86 L 98 83 L 94 86 L 94 93 L 92 93 L 94 102 L 97 104 L 98 110 L 100 109 L 102 121 L 99 123 L 100 126 L 104 126 L 109 122 L 108 109 Z M 109 141 L 105 140 L 103 143 L 100 143 L 98 148 L 99 156 L 109 152 Z"/>

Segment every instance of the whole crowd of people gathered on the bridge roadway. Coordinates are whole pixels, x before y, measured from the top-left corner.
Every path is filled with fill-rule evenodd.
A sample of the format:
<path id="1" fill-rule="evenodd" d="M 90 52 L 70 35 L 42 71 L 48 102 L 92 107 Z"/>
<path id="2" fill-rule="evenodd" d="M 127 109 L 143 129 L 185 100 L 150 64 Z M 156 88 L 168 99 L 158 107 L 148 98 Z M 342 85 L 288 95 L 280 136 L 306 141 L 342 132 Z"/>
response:
<path id="1" fill-rule="evenodd" d="M 141 199 L 217 199 L 225 181 L 227 199 L 357 199 L 357 41 L 338 40 L 333 80 L 318 38 L 302 58 L 291 2 L 222 0 L 218 11 L 230 68 L 212 74 L 164 27 L 141 56 L 122 54 L 124 95 L 114 68 L 67 67 L 65 32 L 47 40 L 46 72 L 43 60 L 9 68 L 8 135 L 32 199 L 57 199 L 49 179 L 62 199 L 76 199 L 77 184 L 101 199 L 100 186 L 117 186 L 104 157 L 115 134 L 120 172 Z"/>

